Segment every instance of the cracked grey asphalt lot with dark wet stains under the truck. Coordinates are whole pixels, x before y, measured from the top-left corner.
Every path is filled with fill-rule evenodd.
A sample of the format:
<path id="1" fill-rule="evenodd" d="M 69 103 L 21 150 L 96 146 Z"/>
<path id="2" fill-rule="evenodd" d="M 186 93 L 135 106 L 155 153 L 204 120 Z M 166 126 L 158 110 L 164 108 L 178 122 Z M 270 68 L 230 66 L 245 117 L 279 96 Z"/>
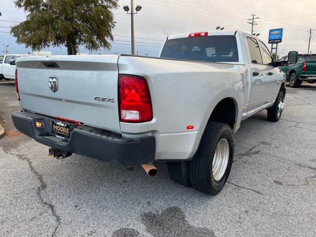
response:
<path id="1" fill-rule="evenodd" d="M 73 155 L 57 160 L 19 133 L 14 81 L 0 81 L 0 236 L 316 236 L 316 83 L 286 87 L 285 111 L 241 122 L 228 183 L 217 196 Z"/>

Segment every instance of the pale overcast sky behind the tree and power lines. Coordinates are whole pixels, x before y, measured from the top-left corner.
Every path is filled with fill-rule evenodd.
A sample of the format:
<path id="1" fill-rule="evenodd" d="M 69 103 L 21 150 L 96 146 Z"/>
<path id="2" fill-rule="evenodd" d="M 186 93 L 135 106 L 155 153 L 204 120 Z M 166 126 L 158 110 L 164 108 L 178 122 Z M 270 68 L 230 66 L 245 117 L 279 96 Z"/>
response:
<path id="1" fill-rule="evenodd" d="M 119 0 L 119 8 L 114 11 L 117 22 L 114 30 L 114 42 L 110 51 L 101 49 L 93 54 L 131 53 L 130 15 L 123 10 L 130 0 Z M 255 14 L 253 32 L 260 34 L 269 49 L 269 30 L 283 28 L 283 41 L 278 44 L 278 54 L 285 55 L 288 51 L 308 52 L 310 29 L 316 29 L 316 0 L 134 0 L 134 8 L 141 5 L 142 9 L 134 15 L 135 54 L 158 56 L 166 36 L 215 31 L 217 26 L 224 31 L 242 30 L 251 32 L 252 14 Z M 17 9 L 13 0 L 0 0 L 0 55 L 9 45 L 9 53 L 27 53 L 30 48 L 19 45 L 15 38 L 6 33 L 10 26 L 26 19 L 23 9 Z M 45 48 L 53 54 L 67 54 L 67 49 Z M 316 31 L 312 34 L 310 51 L 316 53 Z M 80 47 L 80 53 L 89 53 Z"/>

